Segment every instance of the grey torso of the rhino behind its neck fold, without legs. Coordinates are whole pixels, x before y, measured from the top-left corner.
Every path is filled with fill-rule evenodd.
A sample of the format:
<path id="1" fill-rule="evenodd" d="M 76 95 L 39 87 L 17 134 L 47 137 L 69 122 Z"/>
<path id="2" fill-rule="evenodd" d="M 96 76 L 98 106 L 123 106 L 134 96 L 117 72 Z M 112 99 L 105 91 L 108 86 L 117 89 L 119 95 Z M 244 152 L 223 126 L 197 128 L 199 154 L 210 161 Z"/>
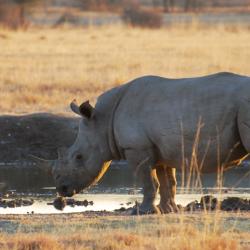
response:
<path id="1" fill-rule="evenodd" d="M 202 161 L 206 156 L 204 171 L 214 171 L 211 165 L 217 166 L 217 159 L 231 161 L 246 154 L 236 118 L 240 102 L 249 98 L 249 92 L 250 79 L 230 73 L 136 79 L 115 113 L 118 144 L 121 148 L 155 147 L 160 160 L 178 168 L 183 145 L 188 159 L 199 133 L 197 158 Z"/>

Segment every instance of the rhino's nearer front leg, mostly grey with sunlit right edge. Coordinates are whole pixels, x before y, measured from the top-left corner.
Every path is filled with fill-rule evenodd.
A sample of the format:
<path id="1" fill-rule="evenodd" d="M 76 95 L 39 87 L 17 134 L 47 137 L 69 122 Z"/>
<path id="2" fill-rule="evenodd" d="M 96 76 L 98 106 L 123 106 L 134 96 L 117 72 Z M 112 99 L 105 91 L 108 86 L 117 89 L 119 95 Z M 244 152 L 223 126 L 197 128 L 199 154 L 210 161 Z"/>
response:
<path id="1" fill-rule="evenodd" d="M 133 214 L 152 214 L 160 213 L 155 206 L 155 199 L 159 188 L 159 182 L 156 177 L 156 170 L 153 169 L 154 161 L 150 154 L 140 153 L 138 151 L 126 152 L 126 159 L 133 168 L 135 176 L 142 179 L 143 201 Z"/>

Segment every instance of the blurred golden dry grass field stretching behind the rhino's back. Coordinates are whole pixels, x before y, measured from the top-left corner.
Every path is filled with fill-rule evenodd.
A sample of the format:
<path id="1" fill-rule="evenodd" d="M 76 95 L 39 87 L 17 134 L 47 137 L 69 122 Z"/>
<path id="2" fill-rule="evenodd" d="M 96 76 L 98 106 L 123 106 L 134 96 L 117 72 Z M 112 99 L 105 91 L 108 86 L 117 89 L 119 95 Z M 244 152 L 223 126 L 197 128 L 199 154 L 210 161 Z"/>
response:
<path id="1" fill-rule="evenodd" d="M 244 26 L 0 30 L 0 112 L 66 112 L 135 77 L 250 74 Z"/>

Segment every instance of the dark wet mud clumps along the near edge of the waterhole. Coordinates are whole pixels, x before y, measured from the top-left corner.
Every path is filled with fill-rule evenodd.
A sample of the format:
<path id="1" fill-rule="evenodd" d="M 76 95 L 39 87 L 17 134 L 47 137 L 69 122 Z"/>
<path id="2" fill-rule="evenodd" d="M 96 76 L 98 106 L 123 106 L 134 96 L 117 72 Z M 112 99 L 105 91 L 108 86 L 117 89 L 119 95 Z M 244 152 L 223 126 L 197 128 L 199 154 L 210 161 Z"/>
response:
<path id="1" fill-rule="evenodd" d="M 51 197 L 52 198 L 52 197 Z M 51 199 L 50 198 L 50 199 Z M 40 197 L 40 201 L 44 199 Z M 35 201 L 32 198 L 0 198 L 0 208 L 18 208 L 32 206 Z M 39 202 L 39 200 L 38 200 Z M 94 202 L 92 200 L 77 200 L 73 198 L 64 198 L 57 197 L 53 201 L 46 203 L 47 206 L 53 206 L 59 211 L 63 211 L 67 206 L 74 207 L 88 207 L 89 211 L 84 211 L 83 214 L 86 215 L 130 215 L 133 214 L 133 211 L 139 210 L 139 203 L 136 202 L 127 202 L 121 203 L 120 208 L 114 209 L 113 211 L 100 210 L 96 211 L 94 209 Z M 202 196 L 200 201 L 195 200 L 188 203 L 186 206 L 177 205 L 179 211 L 181 212 L 202 212 L 202 211 L 215 211 L 221 210 L 226 212 L 250 212 L 250 199 L 244 199 L 240 197 L 227 197 L 222 200 L 212 196 L 205 195 Z M 92 210 L 93 207 L 93 210 Z M 34 213 L 34 212 L 33 212 Z M 74 210 L 72 210 L 74 213 Z"/>

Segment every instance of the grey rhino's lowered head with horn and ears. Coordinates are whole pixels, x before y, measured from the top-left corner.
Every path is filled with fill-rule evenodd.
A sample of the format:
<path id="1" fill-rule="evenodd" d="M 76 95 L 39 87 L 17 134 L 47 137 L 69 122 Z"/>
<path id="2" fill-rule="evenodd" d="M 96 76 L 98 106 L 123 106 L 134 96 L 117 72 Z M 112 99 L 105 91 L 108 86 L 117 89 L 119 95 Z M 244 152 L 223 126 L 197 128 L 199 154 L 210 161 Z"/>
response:
<path id="1" fill-rule="evenodd" d="M 51 171 L 57 192 L 71 197 L 95 184 L 110 165 L 110 150 L 102 114 L 84 102 L 71 103 L 73 112 L 82 116 L 74 144 L 58 150 L 55 161 L 39 161 L 39 166 Z M 62 135 L 63 136 L 63 135 Z"/>

